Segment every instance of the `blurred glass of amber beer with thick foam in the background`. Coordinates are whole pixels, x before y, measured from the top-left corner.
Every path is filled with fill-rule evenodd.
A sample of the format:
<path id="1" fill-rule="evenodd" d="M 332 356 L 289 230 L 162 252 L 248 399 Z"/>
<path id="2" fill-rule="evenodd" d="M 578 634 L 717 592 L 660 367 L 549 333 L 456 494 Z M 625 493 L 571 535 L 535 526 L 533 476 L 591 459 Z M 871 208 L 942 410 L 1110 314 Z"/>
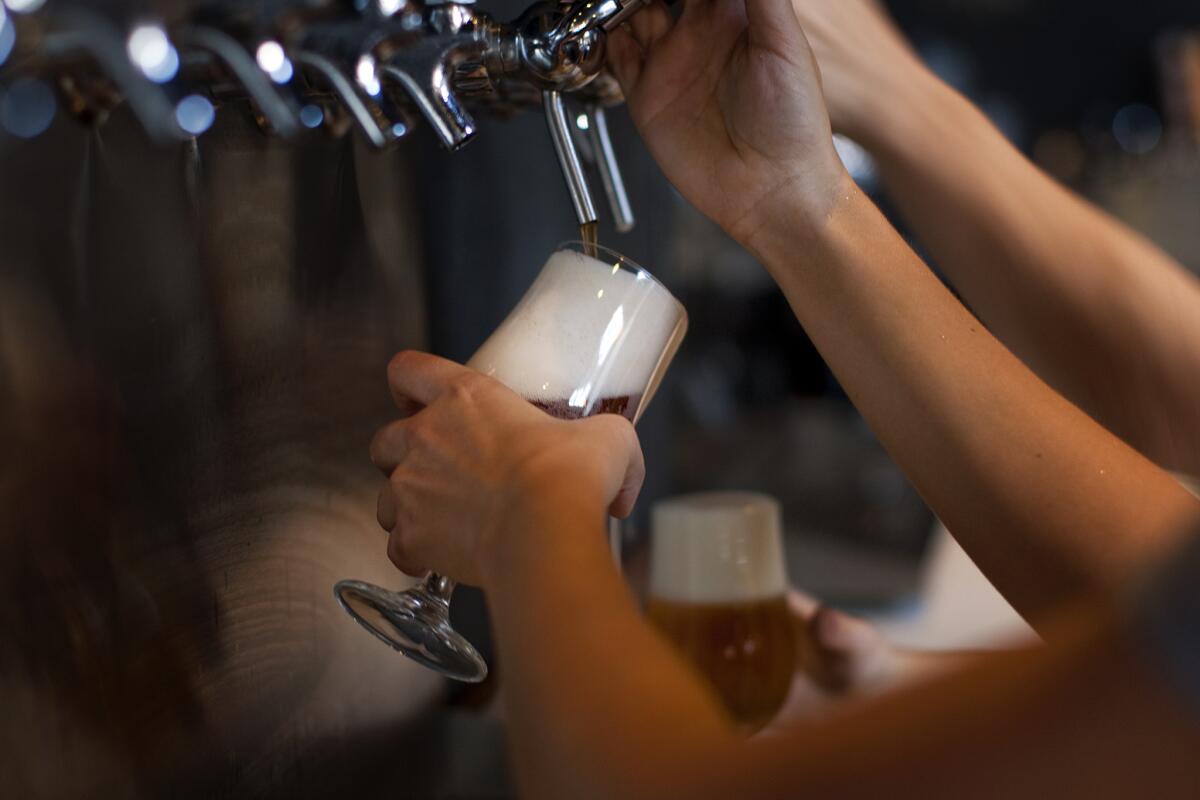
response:
<path id="1" fill-rule="evenodd" d="M 652 513 L 647 616 L 746 730 L 782 706 L 796 630 L 779 504 L 762 494 L 664 500 Z"/>

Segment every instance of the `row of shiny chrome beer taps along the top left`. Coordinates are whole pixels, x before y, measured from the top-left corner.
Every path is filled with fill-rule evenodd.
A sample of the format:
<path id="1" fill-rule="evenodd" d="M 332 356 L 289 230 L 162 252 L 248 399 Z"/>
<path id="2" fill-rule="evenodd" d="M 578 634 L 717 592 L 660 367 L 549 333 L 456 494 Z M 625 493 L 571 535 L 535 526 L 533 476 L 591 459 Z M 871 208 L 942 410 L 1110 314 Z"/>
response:
<path id="1" fill-rule="evenodd" d="M 382 149 L 421 119 L 451 151 L 476 134 L 473 112 L 540 107 L 580 224 L 598 217 L 592 166 L 628 230 L 605 119 L 620 90 L 604 70 L 605 40 L 640 2 L 541 0 L 505 23 L 474 0 L 208 0 L 149 14 L 0 0 L 0 92 L 36 79 L 89 122 L 125 102 L 160 143 L 197 136 L 214 103 L 245 98 L 286 139 L 355 128 Z"/>

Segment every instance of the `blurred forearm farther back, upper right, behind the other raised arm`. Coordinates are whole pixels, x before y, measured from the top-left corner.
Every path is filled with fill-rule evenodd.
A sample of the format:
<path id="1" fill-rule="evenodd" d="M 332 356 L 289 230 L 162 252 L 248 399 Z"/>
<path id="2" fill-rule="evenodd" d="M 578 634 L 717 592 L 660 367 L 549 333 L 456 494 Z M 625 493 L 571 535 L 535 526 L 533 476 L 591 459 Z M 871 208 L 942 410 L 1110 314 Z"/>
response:
<path id="1" fill-rule="evenodd" d="M 1200 282 L 932 76 L 880 116 L 893 199 L 989 329 L 1147 456 L 1200 471 Z"/>

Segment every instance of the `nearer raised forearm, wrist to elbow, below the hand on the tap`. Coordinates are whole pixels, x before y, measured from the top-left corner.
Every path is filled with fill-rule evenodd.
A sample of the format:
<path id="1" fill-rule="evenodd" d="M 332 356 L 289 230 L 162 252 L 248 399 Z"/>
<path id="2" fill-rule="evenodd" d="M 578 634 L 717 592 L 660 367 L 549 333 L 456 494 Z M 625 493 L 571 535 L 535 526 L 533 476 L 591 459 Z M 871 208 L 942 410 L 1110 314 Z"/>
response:
<path id="1" fill-rule="evenodd" d="M 1026 615 L 1108 587 L 1196 501 L 1042 383 L 850 186 L 776 204 L 749 242 L 910 480 Z"/>

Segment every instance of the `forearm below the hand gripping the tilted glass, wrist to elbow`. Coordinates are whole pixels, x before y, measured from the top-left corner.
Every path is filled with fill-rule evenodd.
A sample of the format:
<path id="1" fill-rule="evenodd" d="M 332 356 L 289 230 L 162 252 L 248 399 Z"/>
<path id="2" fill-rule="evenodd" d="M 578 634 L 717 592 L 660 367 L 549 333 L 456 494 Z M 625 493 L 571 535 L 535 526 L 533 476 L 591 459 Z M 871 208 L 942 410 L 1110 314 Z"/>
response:
<path id="1" fill-rule="evenodd" d="M 487 595 L 522 796 L 713 796 L 719 781 L 706 765 L 728 758 L 737 739 L 642 621 L 602 516 L 599 505 L 550 499 L 491 559 Z"/>

